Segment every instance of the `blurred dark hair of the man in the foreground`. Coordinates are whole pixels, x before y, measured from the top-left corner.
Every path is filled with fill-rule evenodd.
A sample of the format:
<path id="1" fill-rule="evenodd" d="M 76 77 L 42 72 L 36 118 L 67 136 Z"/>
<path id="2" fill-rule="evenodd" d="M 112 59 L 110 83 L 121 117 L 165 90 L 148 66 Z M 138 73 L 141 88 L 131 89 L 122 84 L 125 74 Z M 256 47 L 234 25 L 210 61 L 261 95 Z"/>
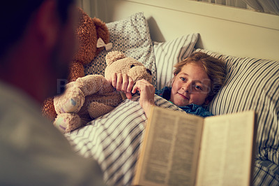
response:
<path id="1" fill-rule="evenodd" d="M 20 39 L 31 15 L 47 0 L 7 0 L 1 2 L 0 57 Z M 68 17 L 68 6 L 75 0 L 56 0 L 61 22 Z"/>

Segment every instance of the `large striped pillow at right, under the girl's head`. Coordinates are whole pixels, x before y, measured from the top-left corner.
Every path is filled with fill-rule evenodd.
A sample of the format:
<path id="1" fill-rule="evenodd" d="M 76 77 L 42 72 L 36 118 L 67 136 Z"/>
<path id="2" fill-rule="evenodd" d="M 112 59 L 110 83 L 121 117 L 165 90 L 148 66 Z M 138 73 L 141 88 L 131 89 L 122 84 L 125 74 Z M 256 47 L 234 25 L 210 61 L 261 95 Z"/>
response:
<path id="1" fill-rule="evenodd" d="M 279 62 L 197 51 L 223 60 L 227 68 L 225 85 L 209 104 L 209 110 L 215 115 L 257 112 L 254 185 L 278 185 Z"/>

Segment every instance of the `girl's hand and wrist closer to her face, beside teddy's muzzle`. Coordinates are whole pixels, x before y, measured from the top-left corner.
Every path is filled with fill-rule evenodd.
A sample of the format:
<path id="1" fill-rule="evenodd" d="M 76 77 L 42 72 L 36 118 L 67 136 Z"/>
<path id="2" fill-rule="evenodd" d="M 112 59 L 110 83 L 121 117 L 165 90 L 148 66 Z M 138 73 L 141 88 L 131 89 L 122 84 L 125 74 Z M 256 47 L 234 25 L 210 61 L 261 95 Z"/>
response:
<path id="1" fill-rule="evenodd" d="M 132 93 L 134 94 L 137 91 L 140 92 L 140 106 L 142 106 L 146 116 L 148 117 L 150 108 L 154 105 L 155 88 L 151 85 L 151 83 L 142 79 L 135 83 Z"/>

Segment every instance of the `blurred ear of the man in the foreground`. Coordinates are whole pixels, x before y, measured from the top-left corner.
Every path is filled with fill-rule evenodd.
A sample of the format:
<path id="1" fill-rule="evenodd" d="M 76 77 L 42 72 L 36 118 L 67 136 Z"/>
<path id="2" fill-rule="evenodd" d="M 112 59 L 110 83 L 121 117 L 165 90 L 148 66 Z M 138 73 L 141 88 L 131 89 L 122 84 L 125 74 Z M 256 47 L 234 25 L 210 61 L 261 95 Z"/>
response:
<path id="1" fill-rule="evenodd" d="M 45 48 L 52 48 L 59 34 L 60 20 L 54 0 L 43 1 L 36 13 L 36 27 L 40 42 Z"/>

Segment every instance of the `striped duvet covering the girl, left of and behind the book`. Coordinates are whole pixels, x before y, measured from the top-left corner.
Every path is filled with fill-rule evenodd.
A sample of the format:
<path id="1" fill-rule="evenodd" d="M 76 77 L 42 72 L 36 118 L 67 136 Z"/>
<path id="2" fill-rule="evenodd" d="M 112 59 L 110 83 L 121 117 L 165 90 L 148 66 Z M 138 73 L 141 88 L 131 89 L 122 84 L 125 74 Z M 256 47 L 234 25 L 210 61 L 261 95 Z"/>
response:
<path id="1" fill-rule="evenodd" d="M 131 185 L 142 142 L 146 115 L 139 96 L 126 99 L 114 110 L 77 129 L 66 137 L 83 157 L 96 159 L 107 185 Z M 180 110 L 155 95 L 156 106 Z"/>

